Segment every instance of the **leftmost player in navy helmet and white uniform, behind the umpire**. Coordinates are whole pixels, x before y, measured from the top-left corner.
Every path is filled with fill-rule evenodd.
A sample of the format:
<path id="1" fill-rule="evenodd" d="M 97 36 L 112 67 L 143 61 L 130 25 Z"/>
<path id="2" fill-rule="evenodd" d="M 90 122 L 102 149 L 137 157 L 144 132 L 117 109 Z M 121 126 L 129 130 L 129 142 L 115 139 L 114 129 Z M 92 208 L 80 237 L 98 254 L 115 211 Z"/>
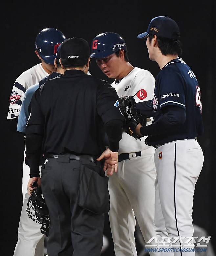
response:
<path id="1" fill-rule="evenodd" d="M 35 53 L 41 63 L 23 72 L 15 81 L 10 96 L 8 111 L 8 123 L 14 131 L 17 127 L 17 119 L 20 113 L 25 91 L 38 83 L 44 77 L 56 71 L 54 59 L 58 46 L 65 40 L 64 34 L 56 28 L 41 30 L 35 39 Z M 26 212 L 29 198 L 27 184 L 29 180 L 29 166 L 23 163 L 23 207 L 18 228 L 18 242 L 14 256 L 43 256 L 44 235 L 40 232 L 40 224 L 32 221 Z"/>

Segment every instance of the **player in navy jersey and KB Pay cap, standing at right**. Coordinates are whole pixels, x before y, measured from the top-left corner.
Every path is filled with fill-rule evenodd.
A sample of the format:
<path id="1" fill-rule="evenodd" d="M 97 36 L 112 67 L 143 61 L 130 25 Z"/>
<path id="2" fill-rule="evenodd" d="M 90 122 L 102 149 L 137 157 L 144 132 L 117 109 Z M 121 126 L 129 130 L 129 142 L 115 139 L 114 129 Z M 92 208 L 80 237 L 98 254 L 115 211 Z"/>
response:
<path id="1" fill-rule="evenodd" d="M 154 117 L 151 125 L 138 124 L 136 133 L 148 135 L 146 144 L 156 148 L 155 231 L 158 242 L 167 237 L 171 245 L 161 247 L 158 255 L 194 256 L 186 238 L 193 236 L 193 195 L 204 160 L 197 142 L 203 133 L 200 87 L 180 58 L 180 32 L 174 20 L 152 19 L 147 32 L 138 35 L 142 38 L 147 38 L 149 58 L 161 69 L 154 98 L 136 104 L 147 117 Z"/>

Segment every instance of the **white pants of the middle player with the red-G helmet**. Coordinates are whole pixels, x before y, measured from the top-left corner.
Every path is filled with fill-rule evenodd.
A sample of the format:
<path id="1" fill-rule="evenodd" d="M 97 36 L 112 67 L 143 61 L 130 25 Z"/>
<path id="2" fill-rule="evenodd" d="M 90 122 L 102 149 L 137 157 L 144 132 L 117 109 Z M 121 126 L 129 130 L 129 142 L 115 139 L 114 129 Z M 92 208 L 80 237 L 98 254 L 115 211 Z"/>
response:
<path id="1" fill-rule="evenodd" d="M 147 242 L 154 230 L 155 177 L 154 148 L 143 150 L 141 157 L 118 163 L 118 171 L 109 176 L 109 220 L 116 256 L 137 256 L 135 216 Z M 134 216 L 135 214 L 135 216 Z M 155 256 L 155 253 L 150 253 Z"/>

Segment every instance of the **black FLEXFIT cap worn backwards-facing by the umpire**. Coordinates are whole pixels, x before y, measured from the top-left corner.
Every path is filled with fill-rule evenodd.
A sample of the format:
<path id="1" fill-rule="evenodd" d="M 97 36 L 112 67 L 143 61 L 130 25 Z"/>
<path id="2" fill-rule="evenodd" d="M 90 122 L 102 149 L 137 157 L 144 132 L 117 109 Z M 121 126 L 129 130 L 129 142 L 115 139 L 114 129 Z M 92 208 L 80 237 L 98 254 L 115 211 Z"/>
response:
<path id="1" fill-rule="evenodd" d="M 57 58 L 64 59 L 64 66 L 85 65 L 90 56 L 90 47 L 83 38 L 73 37 L 65 40 Z"/>

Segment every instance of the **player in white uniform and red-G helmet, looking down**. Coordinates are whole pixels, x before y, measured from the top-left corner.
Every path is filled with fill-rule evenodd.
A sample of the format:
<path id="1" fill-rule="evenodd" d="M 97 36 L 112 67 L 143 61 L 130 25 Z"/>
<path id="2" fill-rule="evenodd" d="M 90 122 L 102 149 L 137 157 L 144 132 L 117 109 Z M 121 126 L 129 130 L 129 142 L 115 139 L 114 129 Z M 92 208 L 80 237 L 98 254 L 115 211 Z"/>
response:
<path id="1" fill-rule="evenodd" d="M 99 34 L 92 41 L 91 58 L 109 78 L 119 97 L 134 95 L 136 102 L 152 99 L 155 79 L 144 69 L 133 67 L 128 60 L 124 39 L 113 32 Z M 151 123 L 149 119 L 149 124 Z M 123 132 L 119 142 L 118 172 L 109 176 L 109 220 L 117 256 L 136 256 L 135 216 L 147 242 L 154 230 L 155 149 L 144 139 L 135 140 Z M 156 255 L 154 252 L 151 256 Z"/>

